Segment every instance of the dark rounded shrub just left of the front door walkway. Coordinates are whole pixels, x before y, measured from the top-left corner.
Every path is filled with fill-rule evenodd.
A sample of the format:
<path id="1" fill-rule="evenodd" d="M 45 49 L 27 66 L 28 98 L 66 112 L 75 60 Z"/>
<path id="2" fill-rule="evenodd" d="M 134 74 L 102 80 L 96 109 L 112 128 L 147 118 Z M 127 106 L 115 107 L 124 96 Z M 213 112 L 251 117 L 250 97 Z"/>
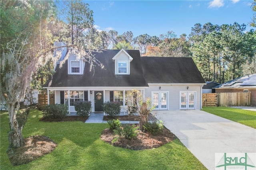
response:
<path id="1" fill-rule="evenodd" d="M 89 116 L 89 113 L 91 112 L 92 102 L 91 101 L 76 101 L 74 103 L 76 115 L 78 116 Z"/>

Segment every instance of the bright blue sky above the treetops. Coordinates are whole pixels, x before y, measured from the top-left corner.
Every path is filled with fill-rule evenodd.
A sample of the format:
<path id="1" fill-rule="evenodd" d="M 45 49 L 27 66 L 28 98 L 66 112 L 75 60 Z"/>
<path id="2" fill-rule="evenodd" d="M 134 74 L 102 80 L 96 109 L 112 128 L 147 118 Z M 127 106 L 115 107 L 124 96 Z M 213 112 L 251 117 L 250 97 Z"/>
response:
<path id="1" fill-rule="evenodd" d="M 177 36 L 191 32 L 196 23 L 217 25 L 251 21 L 253 0 L 89 0 L 96 29 L 132 31 L 134 37 L 174 31 Z M 252 27 L 247 26 L 247 30 Z"/>

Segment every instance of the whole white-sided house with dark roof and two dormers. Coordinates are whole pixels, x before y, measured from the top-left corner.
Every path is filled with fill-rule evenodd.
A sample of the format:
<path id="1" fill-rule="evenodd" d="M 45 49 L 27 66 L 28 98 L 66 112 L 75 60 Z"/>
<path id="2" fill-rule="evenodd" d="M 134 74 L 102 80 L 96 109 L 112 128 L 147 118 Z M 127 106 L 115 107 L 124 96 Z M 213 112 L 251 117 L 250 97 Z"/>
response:
<path id="1" fill-rule="evenodd" d="M 131 90 L 152 98 L 156 110 L 201 109 L 205 84 L 192 58 L 140 57 L 139 50 L 106 50 L 94 57 L 104 64 L 90 71 L 86 59 L 70 55 L 44 88 L 54 91 L 56 104 L 92 101 L 92 111 L 103 111 L 105 101 L 119 102 L 122 111 L 132 105 Z"/>

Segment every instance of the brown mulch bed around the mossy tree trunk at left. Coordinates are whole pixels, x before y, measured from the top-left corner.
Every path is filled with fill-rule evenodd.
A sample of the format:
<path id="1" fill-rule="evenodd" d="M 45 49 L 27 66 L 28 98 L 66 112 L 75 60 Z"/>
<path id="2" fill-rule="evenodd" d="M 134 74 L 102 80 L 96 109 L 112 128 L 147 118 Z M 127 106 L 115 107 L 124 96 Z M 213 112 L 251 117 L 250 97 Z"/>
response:
<path id="1" fill-rule="evenodd" d="M 13 166 L 26 164 L 52 152 L 57 144 L 45 136 L 33 136 L 24 139 L 24 146 L 7 151 Z"/>

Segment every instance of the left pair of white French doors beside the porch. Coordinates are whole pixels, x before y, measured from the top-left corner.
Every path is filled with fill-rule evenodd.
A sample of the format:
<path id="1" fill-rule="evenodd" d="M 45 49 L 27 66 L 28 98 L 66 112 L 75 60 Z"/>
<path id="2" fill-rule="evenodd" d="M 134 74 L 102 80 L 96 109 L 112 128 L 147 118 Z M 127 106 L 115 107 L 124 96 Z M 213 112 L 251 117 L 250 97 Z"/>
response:
<path id="1" fill-rule="evenodd" d="M 167 92 L 153 92 L 152 94 L 153 105 L 155 109 L 168 109 L 168 93 Z"/>

